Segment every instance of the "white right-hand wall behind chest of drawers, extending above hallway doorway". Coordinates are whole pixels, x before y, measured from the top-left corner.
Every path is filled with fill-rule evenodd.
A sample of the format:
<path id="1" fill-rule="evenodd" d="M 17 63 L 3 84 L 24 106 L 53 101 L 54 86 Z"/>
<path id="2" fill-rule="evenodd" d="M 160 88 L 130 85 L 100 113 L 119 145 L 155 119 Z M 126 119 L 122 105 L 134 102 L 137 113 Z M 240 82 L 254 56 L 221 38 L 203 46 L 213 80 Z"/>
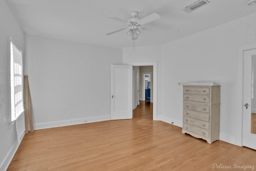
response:
<path id="1" fill-rule="evenodd" d="M 123 62 L 158 61 L 158 118 L 180 127 L 182 86 L 178 83 L 199 81 L 221 85 L 220 139 L 235 144 L 237 51 L 238 46 L 251 42 L 256 42 L 255 14 L 170 42 L 162 49 L 137 48 L 136 56 L 124 48 Z"/>

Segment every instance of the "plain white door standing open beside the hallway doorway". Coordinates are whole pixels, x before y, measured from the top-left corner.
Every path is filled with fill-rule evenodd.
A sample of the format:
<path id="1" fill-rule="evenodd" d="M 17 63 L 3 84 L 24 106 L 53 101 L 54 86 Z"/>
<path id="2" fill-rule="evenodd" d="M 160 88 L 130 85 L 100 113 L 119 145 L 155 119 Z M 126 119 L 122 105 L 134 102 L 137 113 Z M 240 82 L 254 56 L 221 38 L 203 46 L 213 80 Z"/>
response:
<path id="1" fill-rule="evenodd" d="M 111 65 L 110 119 L 132 119 L 132 66 Z"/>

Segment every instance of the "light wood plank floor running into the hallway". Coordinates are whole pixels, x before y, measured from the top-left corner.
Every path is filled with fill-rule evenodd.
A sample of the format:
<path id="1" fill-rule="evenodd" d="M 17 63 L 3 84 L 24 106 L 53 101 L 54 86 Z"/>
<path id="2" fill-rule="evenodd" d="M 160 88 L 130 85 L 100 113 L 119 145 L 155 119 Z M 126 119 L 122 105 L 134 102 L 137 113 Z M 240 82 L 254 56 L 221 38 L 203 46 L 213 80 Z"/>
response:
<path id="1" fill-rule="evenodd" d="M 152 120 L 140 101 L 134 119 L 36 130 L 25 135 L 8 171 L 233 171 L 253 166 L 256 151 L 224 141 L 208 144 L 182 128 Z M 232 169 L 212 169 L 230 166 Z M 252 169 L 246 169 L 249 171 Z"/>

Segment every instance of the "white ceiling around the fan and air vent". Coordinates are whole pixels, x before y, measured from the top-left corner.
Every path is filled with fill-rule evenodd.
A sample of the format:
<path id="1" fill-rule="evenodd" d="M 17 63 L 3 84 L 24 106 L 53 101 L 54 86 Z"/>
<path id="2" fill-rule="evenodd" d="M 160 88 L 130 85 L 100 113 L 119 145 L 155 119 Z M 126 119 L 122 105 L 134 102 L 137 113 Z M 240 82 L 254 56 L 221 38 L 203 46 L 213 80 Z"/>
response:
<path id="1" fill-rule="evenodd" d="M 256 12 L 248 0 L 208 0 L 209 4 L 190 14 L 182 9 L 197 0 L 6 0 L 26 33 L 116 48 L 131 47 L 126 30 L 106 36 L 126 24 L 123 20 L 158 13 L 160 19 L 148 23 L 158 29 L 142 30 L 136 46 L 162 45 L 219 26 Z"/>

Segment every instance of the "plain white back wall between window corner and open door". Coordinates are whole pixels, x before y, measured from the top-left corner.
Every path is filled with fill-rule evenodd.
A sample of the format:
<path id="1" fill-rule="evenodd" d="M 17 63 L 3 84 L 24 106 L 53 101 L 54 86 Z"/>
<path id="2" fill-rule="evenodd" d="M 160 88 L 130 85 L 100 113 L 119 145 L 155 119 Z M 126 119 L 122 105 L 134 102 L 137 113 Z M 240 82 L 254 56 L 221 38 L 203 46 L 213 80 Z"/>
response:
<path id="1" fill-rule="evenodd" d="M 34 128 L 110 119 L 110 64 L 122 49 L 26 34 Z"/>

